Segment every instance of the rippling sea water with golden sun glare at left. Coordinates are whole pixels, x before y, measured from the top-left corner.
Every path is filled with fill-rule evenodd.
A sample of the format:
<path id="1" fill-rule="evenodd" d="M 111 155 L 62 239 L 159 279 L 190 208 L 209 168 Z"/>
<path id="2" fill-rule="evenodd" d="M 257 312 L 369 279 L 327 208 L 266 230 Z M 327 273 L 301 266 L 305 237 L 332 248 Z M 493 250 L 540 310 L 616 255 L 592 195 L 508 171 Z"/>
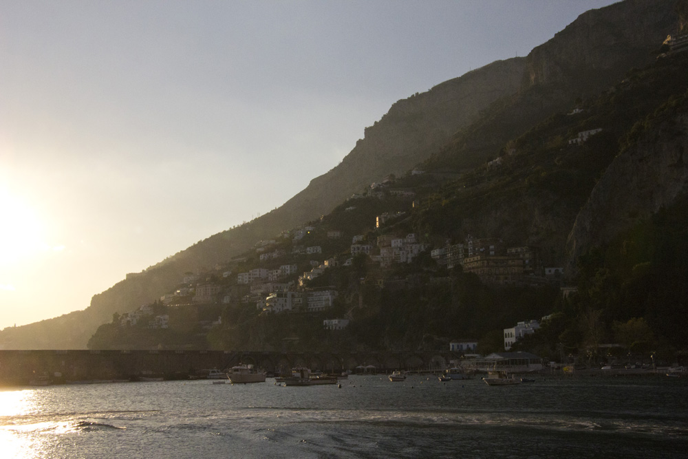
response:
<path id="1" fill-rule="evenodd" d="M 2 458 L 686 458 L 688 379 L 349 376 L 0 392 Z"/>

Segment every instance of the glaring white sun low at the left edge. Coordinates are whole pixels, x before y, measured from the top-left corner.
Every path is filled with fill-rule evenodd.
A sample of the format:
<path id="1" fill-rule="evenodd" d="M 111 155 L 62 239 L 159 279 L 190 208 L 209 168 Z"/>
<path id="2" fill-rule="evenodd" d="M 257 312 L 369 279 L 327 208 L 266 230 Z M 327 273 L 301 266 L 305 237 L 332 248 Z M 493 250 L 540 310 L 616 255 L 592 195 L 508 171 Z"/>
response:
<path id="1" fill-rule="evenodd" d="M 0 264 L 12 264 L 44 250 L 43 224 L 33 209 L 0 190 Z"/>

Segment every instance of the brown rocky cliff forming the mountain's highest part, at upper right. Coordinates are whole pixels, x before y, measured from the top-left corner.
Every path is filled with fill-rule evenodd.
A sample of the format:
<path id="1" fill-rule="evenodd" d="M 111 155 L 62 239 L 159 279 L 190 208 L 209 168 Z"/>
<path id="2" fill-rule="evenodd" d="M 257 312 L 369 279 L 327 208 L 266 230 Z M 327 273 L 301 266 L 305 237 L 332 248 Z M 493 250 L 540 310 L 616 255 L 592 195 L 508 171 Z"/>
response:
<path id="1" fill-rule="evenodd" d="M 466 170 L 499 156 L 506 142 L 538 122 L 652 63 L 678 28 L 674 0 L 627 0 L 581 14 L 528 54 L 517 95 L 488 107 L 487 116 L 459 131 L 427 167 Z"/>

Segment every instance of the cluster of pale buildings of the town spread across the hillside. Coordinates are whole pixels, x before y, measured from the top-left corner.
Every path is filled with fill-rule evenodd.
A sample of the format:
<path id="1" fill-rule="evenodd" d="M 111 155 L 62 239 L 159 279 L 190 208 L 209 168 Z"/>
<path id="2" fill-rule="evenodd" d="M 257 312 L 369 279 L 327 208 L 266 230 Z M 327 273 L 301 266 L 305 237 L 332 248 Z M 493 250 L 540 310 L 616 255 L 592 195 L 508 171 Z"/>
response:
<path id="1" fill-rule="evenodd" d="M 422 171 L 413 171 L 420 175 Z M 353 195 L 340 213 L 356 215 L 357 200 L 374 199 L 378 202 L 394 200 L 402 205 L 418 205 L 416 193 L 409 189 L 402 192 L 394 189 L 394 176 L 371 184 L 369 191 Z M 361 201 L 363 203 L 363 201 Z M 405 204 L 404 204 L 405 203 Z M 352 205 L 350 205 L 352 204 Z M 222 308 L 242 305 L 255 307 L 257 314 L 325 314 L 321 326 L 331 332 L 345 330 L 352 321 L 346 311 L 360 306 L 361 295 L 352 295 L 351 289 L 340 291 L 334 281 L 321 279 L 337 268 L 338 272 L 354 264 L 371 267 L 366 277 L 358 279 L 361 286 L 381 289 L 387 286 L 405 285 L 413 279 L 411 268 L 414 261 L 424 258 L 433 264 L 438 272 L 460 270 L 473 273 L 484 284 L 494 286 L 560 286 L 563 268 L 544 266 L 540 250 L 533 246 L 508 246 L 497 237 L 475 237 L 467 235 L 461 242 L 447 241 L 433 246 L 436 240 L 430 235 L 420 237 L 417 233 L 402 231 L 406 211 L 385 211 L 374 215 L 368 227 L 355 228 L 351 233 L 332 226 L 323 216 L 319 222 L 310 222 L 290 231 L 284 231 L 275 239 L 257 242 L 249 253 L 226 264 L 217 264 L 213 270 L 186 273 L 173 292 L 160 297 L 155 304 L 140 306 L 137 310 L 119 317 L 120 327 L 131 327 L 144 320 L 146 328 L 166 329 L 169 327 L 169 309 L 195 310 L 194 317 L 200 320 L 201 329 L 208 332 L 213 327 L 222 327 Z M 411 272 L 404 277 L 394 274 L 400 266 L 409 266 Z M 243 269 L 242 269 L 243 268 Z M 442 278 L 436 279 L 442 281 Z M 338 308 L 344 311 L 341 317 L 328 314 Z M 158 306 L 156 306 L 158 305 Z M 205 310 L 206 312 L 200 312 Z M 212 311 L 212 312 L 208 312 Z M 215 317 L 208 317 L 215 314 Z M 319 316 L 320 317 L 320 316 Z M 526 320 L 527 319 L 527 320 Z M 537 330 L 538 322 L 524 318 L 514 328 L 504 330 L 504 350 L 519 338 Z M 446 343 L 447 349 L 474 353 L 477 340 L 453 340 Z"/>

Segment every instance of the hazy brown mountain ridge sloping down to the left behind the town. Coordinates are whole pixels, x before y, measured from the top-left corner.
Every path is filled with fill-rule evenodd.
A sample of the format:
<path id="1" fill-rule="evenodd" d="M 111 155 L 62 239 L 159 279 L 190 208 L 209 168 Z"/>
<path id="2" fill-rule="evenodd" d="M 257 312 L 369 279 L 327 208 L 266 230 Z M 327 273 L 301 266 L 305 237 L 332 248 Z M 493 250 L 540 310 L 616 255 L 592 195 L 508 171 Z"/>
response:
<path id="1" fill-rule="evenodd" d="M 426 160 L 424 166 L 438 172 L 471 171 L 504 153 L 510 140 L 537 123 L 608 87 L 630 68 L 654 61 L 661 41 L 676 31 L 680 12 L 673 1 L 654 0 L 627 0 L 591 10 L 526 58 L 498 61 L 399 100 L 365 129 L 363 140 L 341 164 L 279 209 L 208 237 L 143 273 L 127 275 L 94 295 L 84 311 L 3 330 L 0 341 L 6 348 L 84 348 L 98 325 L 115 312 L 159 298 L 186 272 L 225 263 L 260 239 L 330 212 L 387 174 L 405 173 Z M 569 209 L 577 210 L 575 203 Z M 503 227 L 502 217 L 495 212 L 486 220 L 486 230 Z M 550 227 L 542 215 L 533 224 L 537 222 L 566 239 L 568 228 Z"/>

